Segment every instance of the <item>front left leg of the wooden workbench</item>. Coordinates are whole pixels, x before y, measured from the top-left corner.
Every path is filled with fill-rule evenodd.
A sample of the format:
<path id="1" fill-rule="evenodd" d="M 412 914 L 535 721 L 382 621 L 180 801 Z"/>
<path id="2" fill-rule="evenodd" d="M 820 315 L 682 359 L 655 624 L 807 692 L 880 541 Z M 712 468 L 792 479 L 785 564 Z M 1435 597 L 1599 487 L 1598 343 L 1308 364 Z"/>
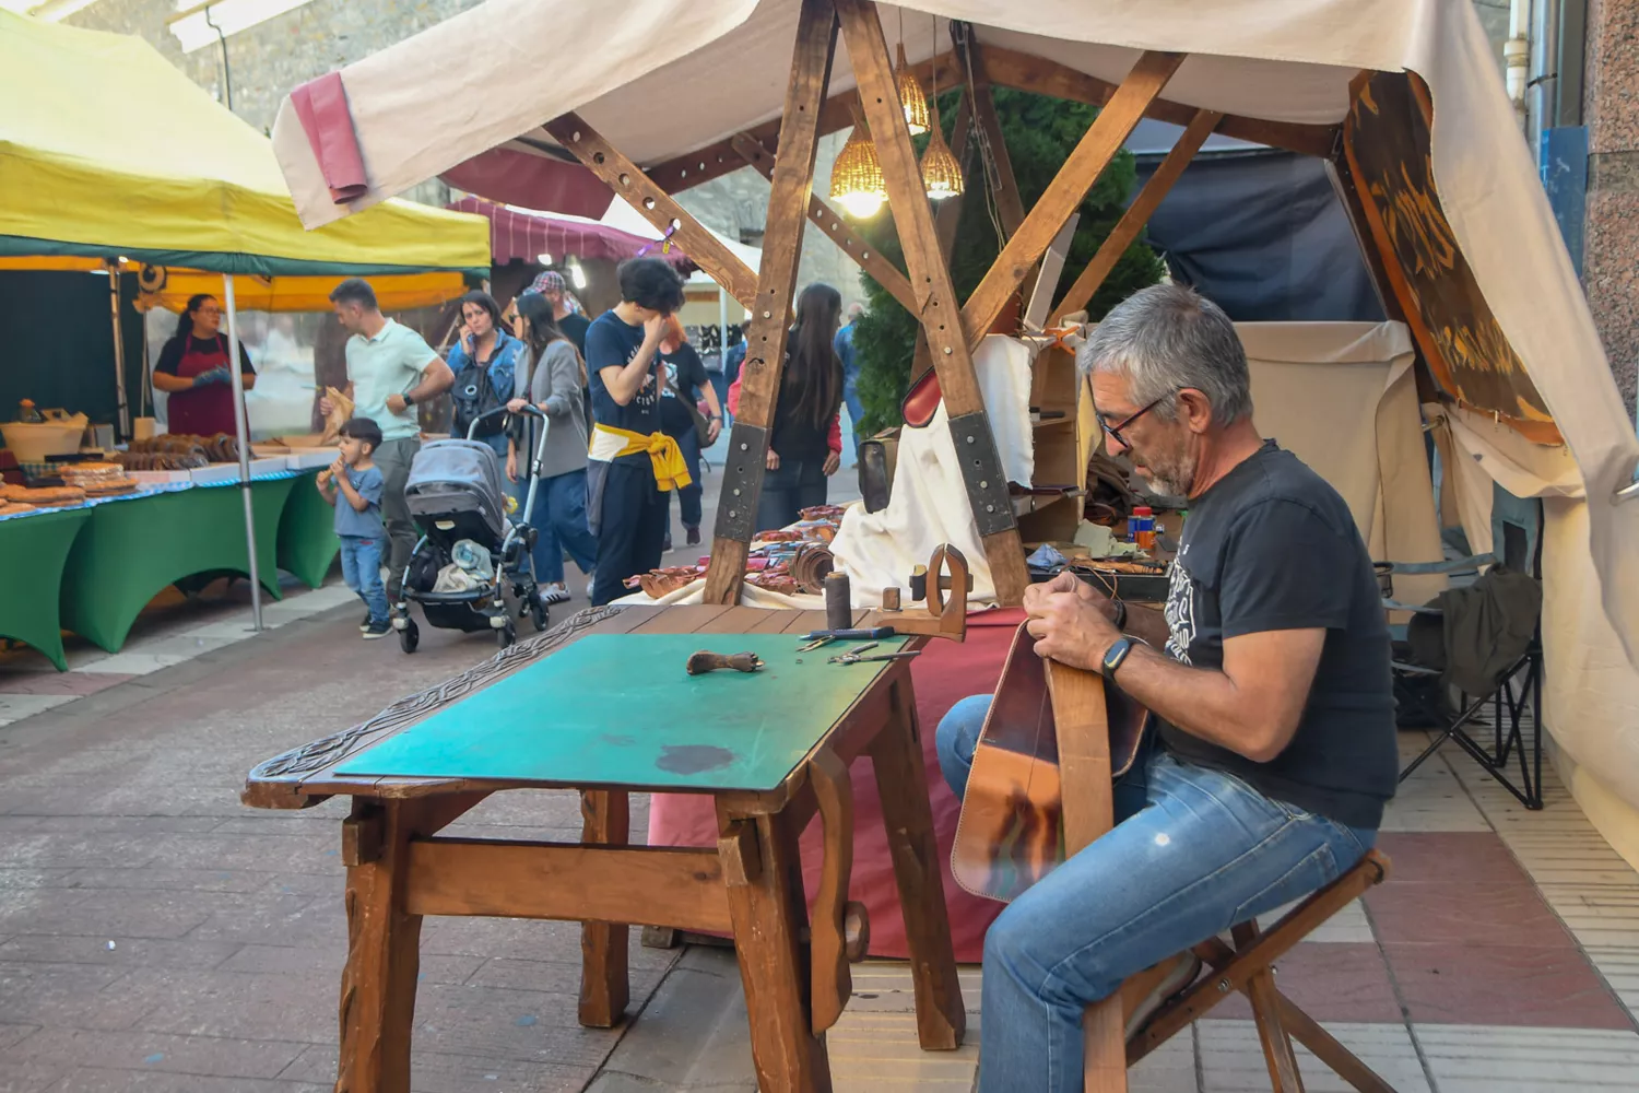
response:
<path id="1" fill-rule="evenodd" d="M 347 965 L 336 1093 L 408 1093 L 421 916 L 402 911 L 418 801 L 354 798 L 343 826 Z"/>

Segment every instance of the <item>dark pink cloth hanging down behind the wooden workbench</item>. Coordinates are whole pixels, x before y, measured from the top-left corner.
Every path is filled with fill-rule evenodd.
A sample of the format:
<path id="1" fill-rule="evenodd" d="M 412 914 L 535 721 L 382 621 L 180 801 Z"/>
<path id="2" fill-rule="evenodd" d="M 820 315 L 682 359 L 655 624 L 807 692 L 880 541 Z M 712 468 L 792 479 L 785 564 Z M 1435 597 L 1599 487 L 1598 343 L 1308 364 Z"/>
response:
<path id="1" fill-rule="evenodd" d="M 951 914 L 951 937 L 956 959 L 978 964 L 983 955 L 985 931 L 1003 905 L 962 891 L 951 877 L 951 844 L 960 801 L 939 773 L 934 752 L 934 728 L 951 706 L 969 695 L 995 692 L 1013 633 L 1024 619 L 1023 611 L 975 611 L 967 616 L 967 641 L 956 644 L 934 639 L 911 660 L 911 683 L 916 690 L 916 719 L 921 726 L 923 764 L 928 769 L 928 798 L 933 805 L 934 836 L 939 842 L 939 877 L 944 903 Z M 865 905 L 870 914 L 870 954 L 908 957 L 900 893 L 893 882 L 893 862 L 882 826 L 882 801 L 877 798 L 875 772 L 869 759 L 854 764 L 854 872 L 849 898 Z M 716 814 L 710 796 L 656 793 L 649 805 L 649 846 L 716 846 Z M 808 898 L 820 888 L 821 829 L 816 818 L 801 837 L 803 882 Z"/>

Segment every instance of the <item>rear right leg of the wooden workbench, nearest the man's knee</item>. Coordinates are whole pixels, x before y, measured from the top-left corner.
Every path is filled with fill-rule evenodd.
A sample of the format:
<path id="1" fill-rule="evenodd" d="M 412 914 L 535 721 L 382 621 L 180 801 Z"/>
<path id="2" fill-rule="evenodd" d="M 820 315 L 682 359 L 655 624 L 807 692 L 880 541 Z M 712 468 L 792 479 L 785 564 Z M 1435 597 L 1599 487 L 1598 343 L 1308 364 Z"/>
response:
<path id="1" fill-rule="evenodd" d="M 888 831 L 893 880 L 905 914 L 905 942 L 916 986 L 916 1037 L 923 1050 L 956 1050 L 967 1034 L 967 1008 L 956 978 L 942 862 L 928 805 L 928 772 L 910 673 L 893 683 L 890 721 L 870 746 Z"/>

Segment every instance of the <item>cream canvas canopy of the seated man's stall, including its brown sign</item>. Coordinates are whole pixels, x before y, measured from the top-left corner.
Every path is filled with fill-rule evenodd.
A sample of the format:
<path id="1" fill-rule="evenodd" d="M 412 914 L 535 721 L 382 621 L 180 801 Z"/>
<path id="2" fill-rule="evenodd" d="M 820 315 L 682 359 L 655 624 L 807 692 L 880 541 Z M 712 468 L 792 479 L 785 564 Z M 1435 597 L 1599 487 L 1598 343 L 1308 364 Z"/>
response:
<path id="1" fill-rule="evenodd" d="M 570 113 L 646 180 L 675 192 L 742 166 L 736 134 L 772 149 L 793 82 L 800 11 L 800 0 L 488 0 L 341 72 L 367 172 L 362 197 L 333 203 L 318 134 L 303 129 L 288 103 L 274 128 L 275 149 L 310 226 L 492 147 L 572 162 L 552 121 L 543 126 Z M 1100 102 L 1108 100 L 1144 51 L 1187 54 L 1152 116 L 1221 111 L 1218 133 L 1337 164 L 1342 190 L 1355 187 L 1352 198 L 1372 224 L 1362 243 L 1383 295 L 1393 288 L 1392 298 L 1418 311 L 1408 318 L 1424 364 L 1454 397 L 1446 421 L 1457 449 L 1510 492 L 1546 501 L 1546 724 L 1573 791 L 1639 860 L 1639 441 L 1472 7 L 908 0 L 903 11 L 910 61 L 924 79 L 938 70 L 944 87 L 956 79 L 941 44 L 947 20 L 974 25 L 990 84 L 1087 102 L 1100 87 Z M 882 21 L 892 46 L 898 20 Z M 547 70 L 541 41 L 585 48 L 559 52 Z M 482 80 L 443 64 L 480 51 L 490 61 Z M 1403 72 L 1418 79 L 1367 82 Z M 851 59 L 838 49 L 821 133 L 849 125 L 841 93 L 854 84 Z M 495 85 L 508 88 L 500 100 L 488 93 Z M 1373 102 L 1385 87 L 1421 102 L 1426 131 Z M 679 102 L 688 110 L 656 108 Z M 1382 126 L 1378 151 L 1426 172 L 1426 185 L 1372 192 L 1380 177 L 1354 156 L 1365 154 L 1364 144 L 1347 157 L 1336 151 L 1339 126 L 1349 123 Z M 882 126 L 874 121 L 872 129 L 880 146 Z M 769 254 L 777 261 L 772 247 Z M 1449 287 L 1454 298 L 1442 297 Z M 736 295 L 746 300 L 747 287 Z M 1464 321 L 1446 324 L 1454 310 Z M 1429 354 L 1432 346 L 1441 352 Z M 1470 533 L 1480 536 L 1478 528 Z M 1587 790 L 1585 770 L 1596 772 Z M 1609 803 L 1609 818 L 1601 819 L 1595 798 Z M 1628 818 L 1618 819 L 1624 808 Z"/>

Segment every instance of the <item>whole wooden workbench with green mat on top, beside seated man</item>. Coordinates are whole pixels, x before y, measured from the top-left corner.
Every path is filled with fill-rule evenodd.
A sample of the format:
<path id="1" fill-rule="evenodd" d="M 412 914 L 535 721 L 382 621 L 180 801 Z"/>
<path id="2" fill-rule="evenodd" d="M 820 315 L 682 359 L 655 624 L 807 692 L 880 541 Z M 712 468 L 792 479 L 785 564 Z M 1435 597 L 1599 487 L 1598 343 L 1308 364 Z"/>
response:
<path id="1" fill-rule="evenodd" d="M 760 1086 L 831 1088 L 823 1032 L 851 995 L 847 959 L 862 955 L 869 937 L 862 909 L 847 901 L 847 767 L 860 755 L 872 759 L 892 846 L 921 1045 L 959 1047 L 965 1011 L 908 662 L 828 665 L 816 652 L 797 664 L 793 636 L 823 624 L 820 611 L 587 610 L 361 726 L 256 767 L 243 795 L 251 806 L 352 798 L 343 823 L 349 947 L 339 1086 L 410 1088 L 421 918 L 482 914 L 585 923 L 580 1023 L 598 1027 L 620 1021 L 628 1003 L 624 924 L 733 934 Z M 685 649 L 749 649 L 765 669 L 688 677 Z M 590 677 L 624 652 L 631 659 L 615 678 L 583 688 L 605 705 L 588 698 L 526 746 L 518 736 L 536 723 L 503 724 L 557 672 Z M 628 690 L 633 701 L 613 693 Z M 710 706 L 690 701 L 706 690 Z M 490 793 L 524 787 L 579 790 L 582 842 L 434 837 Z M 628 795 L 649 790 L 711 795 L 716 849 L 628 846 Z M 797 839 L 815 814 L 824 864 L 810 924 Z"/>

